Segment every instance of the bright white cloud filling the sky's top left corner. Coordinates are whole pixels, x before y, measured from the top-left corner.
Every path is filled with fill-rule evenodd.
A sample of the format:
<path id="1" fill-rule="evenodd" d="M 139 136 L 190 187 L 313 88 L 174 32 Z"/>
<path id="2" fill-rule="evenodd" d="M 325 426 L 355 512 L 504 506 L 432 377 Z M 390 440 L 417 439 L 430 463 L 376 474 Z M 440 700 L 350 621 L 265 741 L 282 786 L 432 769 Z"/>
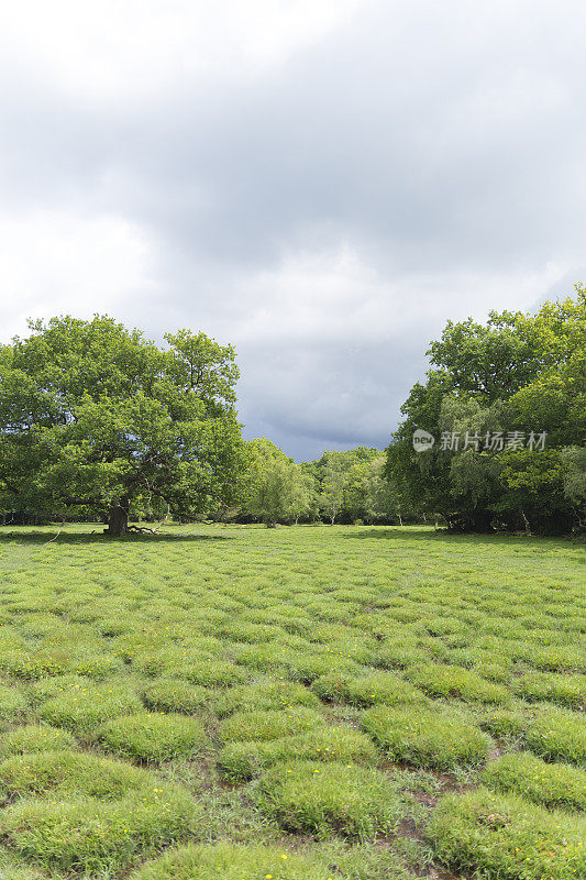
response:
<path id="1" fill-rule="evenodd" d="M 364 0 L 21 0 L 2 14 L 4 64 L 86 99 L 126 101 L 283 64 Z"/>

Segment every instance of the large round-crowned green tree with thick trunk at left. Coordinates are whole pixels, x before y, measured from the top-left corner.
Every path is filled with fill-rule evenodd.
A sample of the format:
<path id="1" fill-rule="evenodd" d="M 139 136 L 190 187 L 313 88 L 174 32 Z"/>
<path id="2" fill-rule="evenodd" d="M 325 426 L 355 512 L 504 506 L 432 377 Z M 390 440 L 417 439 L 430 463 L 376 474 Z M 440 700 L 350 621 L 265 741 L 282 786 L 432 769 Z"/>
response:
<path id="1" fill-rule="evenodd" d="M 157 349 L 106 317 L 30 329 L 0 361 L 5 509 L 82 506 L 124 534 L 131 505 L 153 497 L 179 513 L 230 499 L 240 444 L 231 346 L 180 330 Z"/>

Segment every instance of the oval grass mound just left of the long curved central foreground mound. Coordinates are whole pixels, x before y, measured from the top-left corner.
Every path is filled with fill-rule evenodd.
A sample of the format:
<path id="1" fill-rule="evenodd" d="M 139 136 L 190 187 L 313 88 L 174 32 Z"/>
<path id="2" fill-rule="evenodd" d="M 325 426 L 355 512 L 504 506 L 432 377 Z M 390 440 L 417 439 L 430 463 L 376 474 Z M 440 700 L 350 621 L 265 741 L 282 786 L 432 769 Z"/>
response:
<path id="1" fill-rule="evenodd" d="M 196 718 L 155 712 L 112 718 L 98 728 L 97 737 L 107 751 L 140 761 L 192 758 L 206 743 Z"/>

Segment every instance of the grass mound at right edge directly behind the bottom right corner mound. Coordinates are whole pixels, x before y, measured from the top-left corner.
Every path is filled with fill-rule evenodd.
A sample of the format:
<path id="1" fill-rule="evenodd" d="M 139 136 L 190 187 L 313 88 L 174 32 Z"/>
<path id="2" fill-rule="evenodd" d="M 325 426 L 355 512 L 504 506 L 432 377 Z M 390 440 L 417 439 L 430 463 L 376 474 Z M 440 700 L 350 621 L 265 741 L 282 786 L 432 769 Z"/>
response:
<path id="1" fill-rule="evenodd" d="M 529 752 L 504 755 L 483 770 L 482 779 L 491 789 L 538 804 L 586 810 L 586 770 L 566 763 L 545 763 Z"/>

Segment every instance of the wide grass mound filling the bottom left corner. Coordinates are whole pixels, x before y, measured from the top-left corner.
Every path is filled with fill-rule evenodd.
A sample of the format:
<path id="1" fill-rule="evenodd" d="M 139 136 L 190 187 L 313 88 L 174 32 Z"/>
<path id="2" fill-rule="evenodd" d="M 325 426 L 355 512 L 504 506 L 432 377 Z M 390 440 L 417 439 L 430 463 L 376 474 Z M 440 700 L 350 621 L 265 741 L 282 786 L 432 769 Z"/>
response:
<path id="1" fill-rule="evenodd" d="M 137 854 L 201 837 L 204 828 L 199 804 L 170 787 L 114 803 L 22 800 L 1 811 L 0 823 L 4 843 L 29 861 L 100 878 L 123 870 Z"/>

